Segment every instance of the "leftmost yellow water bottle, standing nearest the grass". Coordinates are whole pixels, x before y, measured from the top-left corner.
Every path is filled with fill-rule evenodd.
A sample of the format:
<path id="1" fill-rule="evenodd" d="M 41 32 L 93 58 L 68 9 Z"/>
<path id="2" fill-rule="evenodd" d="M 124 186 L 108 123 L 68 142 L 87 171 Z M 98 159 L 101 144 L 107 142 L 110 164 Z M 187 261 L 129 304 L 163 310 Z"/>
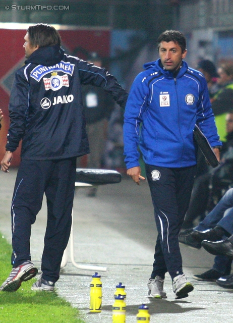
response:
<path id="1" fill-rule="evenodd" d="M 100 281 L 100 277 L 98 273 L 92 276 L 90 284 L 90 312 L 101 312 L 102 282 Z"/>

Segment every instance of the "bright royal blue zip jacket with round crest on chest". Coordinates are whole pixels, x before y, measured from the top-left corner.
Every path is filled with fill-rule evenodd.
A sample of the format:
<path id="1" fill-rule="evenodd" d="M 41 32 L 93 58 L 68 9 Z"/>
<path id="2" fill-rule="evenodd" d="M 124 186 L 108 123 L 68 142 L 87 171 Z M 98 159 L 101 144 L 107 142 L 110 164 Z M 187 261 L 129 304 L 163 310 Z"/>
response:
<path id="1" fill-rule="evenodd" d="M 210 145 L 221 145 L 204 76 L 182 63 L 174 78 L 160 59 L 144 65 L 126 104 L 124 154 L 127 169 L 146 164 L 180 168 L 196 165 L 195 124 Z"/>

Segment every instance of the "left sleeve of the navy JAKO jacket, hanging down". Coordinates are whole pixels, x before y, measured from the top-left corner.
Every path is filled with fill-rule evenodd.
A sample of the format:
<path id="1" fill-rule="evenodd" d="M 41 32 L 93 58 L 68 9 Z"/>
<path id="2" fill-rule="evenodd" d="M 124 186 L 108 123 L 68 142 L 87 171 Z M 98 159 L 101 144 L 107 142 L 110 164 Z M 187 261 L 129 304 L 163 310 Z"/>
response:
<path id="1" fill-rule="evenodd" d="M 7 150 L 15 151 L 19 146 L 25 131 L 28 105 L 29 83 L 22 70 L 19 70 L 15 75 L 9 102 L 10 128 L 7 135 Z"/>

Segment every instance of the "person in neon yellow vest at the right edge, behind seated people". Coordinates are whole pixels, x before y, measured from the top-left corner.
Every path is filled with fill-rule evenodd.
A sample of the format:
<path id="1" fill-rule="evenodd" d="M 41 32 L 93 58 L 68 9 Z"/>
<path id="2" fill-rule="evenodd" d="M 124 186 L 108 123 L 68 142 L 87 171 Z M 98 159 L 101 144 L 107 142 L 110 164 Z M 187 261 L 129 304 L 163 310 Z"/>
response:
<path id="1" fill-rule="evenodd" d="M 233 64 L 221 64 L 217 72 L 217 84 L 221 88 L 211 99 L 211 104 L 220 140 L 225 141 L 225 117 L 228 112 L 233 112 Z"/>

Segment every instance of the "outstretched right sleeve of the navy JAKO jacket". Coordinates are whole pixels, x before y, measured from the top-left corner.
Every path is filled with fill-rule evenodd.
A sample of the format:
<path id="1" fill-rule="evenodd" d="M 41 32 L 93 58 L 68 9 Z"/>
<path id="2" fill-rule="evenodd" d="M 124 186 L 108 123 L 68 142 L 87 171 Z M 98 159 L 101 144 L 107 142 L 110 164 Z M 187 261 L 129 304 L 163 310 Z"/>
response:
<path id="1" fill-rule="evenodd" d="M 85 61 L 79 61 L 79 75 L 81 84 L 102 87 L 111 94 L 116 103 L 125 109 L 128 93 L 105 68 L 97 67 Z"/>

